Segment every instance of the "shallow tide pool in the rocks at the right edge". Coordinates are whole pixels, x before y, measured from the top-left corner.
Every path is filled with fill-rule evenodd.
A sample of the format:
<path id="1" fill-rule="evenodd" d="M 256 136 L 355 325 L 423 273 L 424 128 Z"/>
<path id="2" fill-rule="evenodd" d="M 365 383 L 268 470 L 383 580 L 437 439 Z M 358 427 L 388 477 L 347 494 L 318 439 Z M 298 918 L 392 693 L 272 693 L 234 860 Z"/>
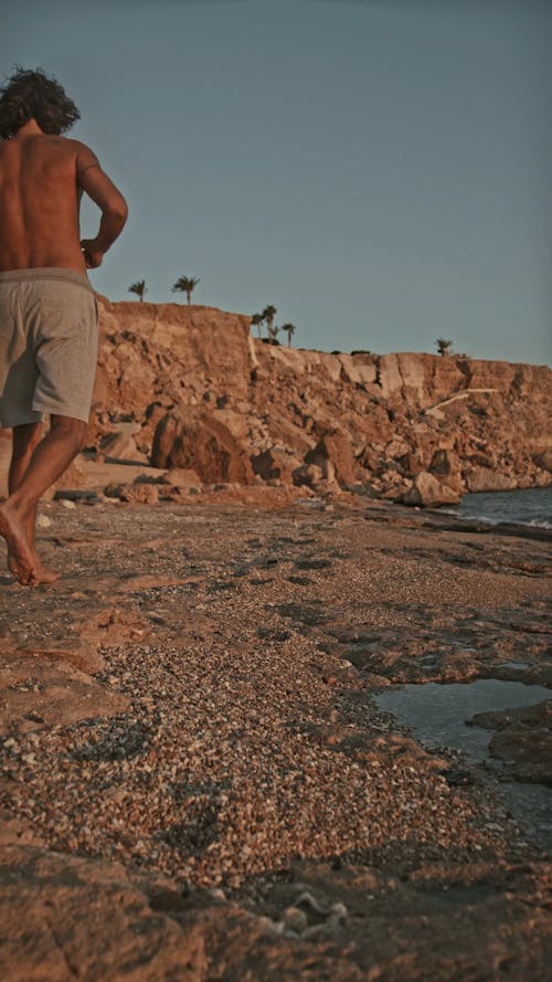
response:
<path id="1" fill-rule="evenodd" d="M 550 699 L 543 686 L 479 678 L 471 683 L 404 685 L 375 696 L 379 706 L 433 747 L 460 750 L 473 763 L 500 764 L 488 758 L 491 730 L 466 726 L 476 712 L 534 706 Z M 501 785 L 505 805 L 541 848 L 552 852 L 552 789 L 543 784 Z"/>

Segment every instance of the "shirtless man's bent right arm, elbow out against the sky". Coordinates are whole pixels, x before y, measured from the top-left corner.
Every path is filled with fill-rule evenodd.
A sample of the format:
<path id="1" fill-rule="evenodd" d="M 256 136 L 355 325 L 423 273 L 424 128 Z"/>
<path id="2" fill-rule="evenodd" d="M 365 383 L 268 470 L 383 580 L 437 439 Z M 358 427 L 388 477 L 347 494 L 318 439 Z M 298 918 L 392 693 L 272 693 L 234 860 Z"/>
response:
<path id="1" fill-rule="evenodd" d="M 97 157 L 84 144 L 79 145 L 77 152 L 76 177 L 81 188 L 102 211 L 96 237 L 83 239 L 81 242 L 88 270 L 95 270 L 102 265 L 104 253 L 123 231 L 128 215 L 127 202 L 102 170 Z"/>

